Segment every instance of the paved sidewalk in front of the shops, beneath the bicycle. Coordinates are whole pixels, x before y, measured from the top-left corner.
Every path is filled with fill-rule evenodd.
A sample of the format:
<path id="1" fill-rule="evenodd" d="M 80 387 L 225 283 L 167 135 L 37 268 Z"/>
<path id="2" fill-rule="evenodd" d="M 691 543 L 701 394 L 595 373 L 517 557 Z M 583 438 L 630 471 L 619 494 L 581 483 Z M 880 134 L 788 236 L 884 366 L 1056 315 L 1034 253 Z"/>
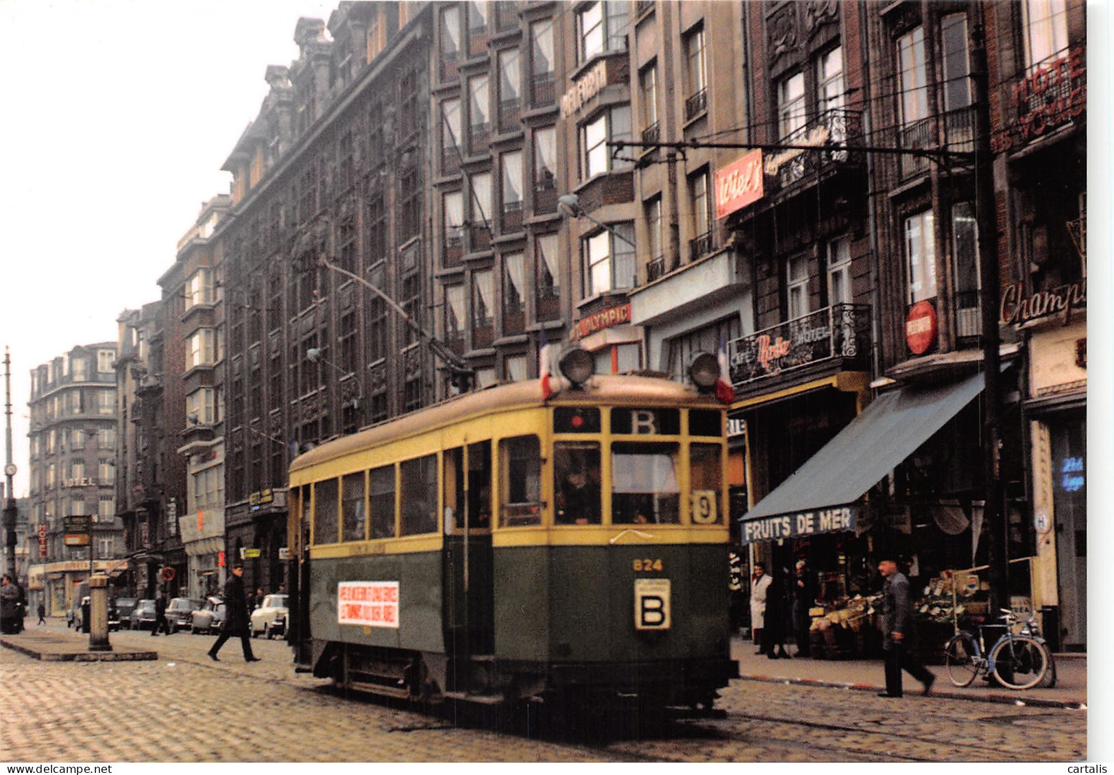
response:
<path id="1" fill-rule="evenodd" d="M 790 646 L 797 653 L 797 647 Z M 754 645 L 741 637 L 732 638 L 731 657 L 739 662 L 739 675 L 744 680 L 791 682 L 808 686 L 834 687 L 861 691 L 882 691 L 886 688 L 880 659 L 770 659 L 754 653 Z M 1079 708 L 1087 703 L 1087 656 L 1057 653 L 1056 686 L 1014 691 L 987 684 L 981 676 L 965 688 L 952 686 L 944 665 L 929 665 L 936 674 L 932 696 L 949 699 L 974 699 L 984 703 L 1024 703 L 1030 706 Z M 919 695 L 920 682 L 902 672 L 905 691 Z"/>

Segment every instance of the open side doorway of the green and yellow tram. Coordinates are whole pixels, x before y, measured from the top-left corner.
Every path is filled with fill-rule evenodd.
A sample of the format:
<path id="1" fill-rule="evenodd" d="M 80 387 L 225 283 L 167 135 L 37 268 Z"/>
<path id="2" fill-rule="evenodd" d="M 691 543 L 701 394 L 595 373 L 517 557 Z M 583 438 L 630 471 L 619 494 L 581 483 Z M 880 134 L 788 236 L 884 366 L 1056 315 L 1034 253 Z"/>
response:
<path id="1" fill-rule="evenodd" d="M 451 657 L 488 655 L 495 649 L 491 443 L 447 449 L 442 463 L 446 649 Z"/>

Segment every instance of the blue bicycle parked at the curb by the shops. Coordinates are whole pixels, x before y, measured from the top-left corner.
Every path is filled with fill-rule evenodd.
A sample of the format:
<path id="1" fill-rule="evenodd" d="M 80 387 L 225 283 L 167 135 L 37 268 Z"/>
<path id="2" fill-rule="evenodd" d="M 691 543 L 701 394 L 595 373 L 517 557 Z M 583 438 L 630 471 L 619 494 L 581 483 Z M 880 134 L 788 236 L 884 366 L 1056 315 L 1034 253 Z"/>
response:
<path id="1" fill-rule="evenodd" d="M 994 676 L 1007 689 L 1032 689 L 1044 680 L 1052 661 L 1044 640 L 1028 633 L 1015 634 L 1013 624 L 1017 617 L 1006 609 L 1003 613 L 1006 631 L 989 651 L 986 650 L 984 630 L 993 626 L 986 624 L 979 626 L 978 637 L 961 630 L 945 645 L 945 665 L 955 686 L 970 686 L 979 674 Z M 1036 621 L 1030 618 L 1025 628 L 1028 632 L 1034 631 Z"/>

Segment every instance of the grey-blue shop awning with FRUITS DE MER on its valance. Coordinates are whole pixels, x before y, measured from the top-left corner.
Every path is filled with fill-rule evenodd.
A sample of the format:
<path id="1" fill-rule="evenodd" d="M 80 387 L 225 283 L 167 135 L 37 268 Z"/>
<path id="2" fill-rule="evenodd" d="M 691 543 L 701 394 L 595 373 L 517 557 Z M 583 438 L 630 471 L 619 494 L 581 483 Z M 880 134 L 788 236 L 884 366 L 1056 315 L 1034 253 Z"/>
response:
<path id="1" fill-rule="evenodd" d="M 743 515 L 743 543 L 853 530 L 863 494 L 983 391 L 983 374 L 879 396 Z"/>

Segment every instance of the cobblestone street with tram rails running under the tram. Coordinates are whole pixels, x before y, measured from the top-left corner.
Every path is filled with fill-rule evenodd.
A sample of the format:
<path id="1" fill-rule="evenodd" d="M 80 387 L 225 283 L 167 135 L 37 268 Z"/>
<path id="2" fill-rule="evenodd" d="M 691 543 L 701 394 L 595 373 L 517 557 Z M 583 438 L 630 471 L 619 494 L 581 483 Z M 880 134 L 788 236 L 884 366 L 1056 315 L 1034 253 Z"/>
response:
<path id="1" fill-rule="evenodd" d="M 51 627 L 59 627 L 51 623 Z M 295 675 L 286 645 L 253 641 L 245 665 L 211 637 L 113 633 L 159 659 L 38 661 L 0 649 L 11 704 L 7 762 L 1068 762 L 1086 711 L 736 680 L 723 718 L 678 719 L 644 739 L 583 742 L 452 721 L 345 698 Z M 899 713 L 895 713 L 899 711 Z M 531 735 L 535 734 L 531 732 Z"/>

